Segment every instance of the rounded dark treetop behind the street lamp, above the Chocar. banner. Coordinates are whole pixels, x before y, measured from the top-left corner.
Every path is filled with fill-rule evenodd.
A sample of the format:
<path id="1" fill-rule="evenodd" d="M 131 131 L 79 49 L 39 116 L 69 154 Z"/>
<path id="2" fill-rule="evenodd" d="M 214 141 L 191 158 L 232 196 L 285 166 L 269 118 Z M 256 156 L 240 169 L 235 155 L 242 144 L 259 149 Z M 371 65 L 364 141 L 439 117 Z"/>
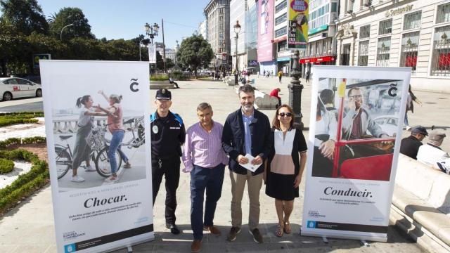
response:
<path id="1" fill-rule="evenodd" d="M 94 39 L 91 33 L 91 25 L 89 20 L 84 16 L 80 8 L 61 8 L 58 13 L 54 13 L 49 18 L 50 34 L 53 37 L 60 38 L 60 32 L 66 25 L 71 25 L 63 30 L 63 38 L 65 41 L 73 38 Z"/>

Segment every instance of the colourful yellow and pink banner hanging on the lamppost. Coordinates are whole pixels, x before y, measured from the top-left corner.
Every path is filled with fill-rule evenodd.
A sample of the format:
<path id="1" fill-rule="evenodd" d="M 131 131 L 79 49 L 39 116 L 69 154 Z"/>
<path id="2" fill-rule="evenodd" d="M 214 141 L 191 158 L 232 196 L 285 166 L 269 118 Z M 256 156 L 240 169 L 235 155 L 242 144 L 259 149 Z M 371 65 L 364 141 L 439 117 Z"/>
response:
<path id="1" fill-rule="evenodd" d="M 307 49 L 308 0 L 288 0 L 288 48 Z"/>

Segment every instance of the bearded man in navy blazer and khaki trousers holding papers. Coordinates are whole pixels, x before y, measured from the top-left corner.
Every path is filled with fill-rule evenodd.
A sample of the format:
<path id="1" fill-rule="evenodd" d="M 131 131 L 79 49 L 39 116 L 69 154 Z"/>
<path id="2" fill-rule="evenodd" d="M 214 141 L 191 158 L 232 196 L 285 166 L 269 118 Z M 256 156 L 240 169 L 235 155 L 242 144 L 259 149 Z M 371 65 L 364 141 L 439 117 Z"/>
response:
<path id="1" fill-rule="evenodd" d="M 225 121 L 222 133 L 222 146 L 229 155 L 229 169 L 231 179 L 231 231 L 227 236 L 229 241 L 236 240 L 242 226 L 241 201 L 244 193 L 245 182 L 248 183 L 248 195 L 250 199 L 250 214 L 248 226 L 250 234 L 255 242 L 263 242 L 259 233 L 259 190 L 262 186 L 264 172 L 264 160 L 271 150 L 270 123 L 264 113 L 255 110 L 255 90 L 250 84 L 239 88 L 239 100 L 241 107 L 232 112 Z M 249 161 L 246 154 L 255 157 Z M 250 162 L 259 166 L 252 172 L 240 164 Z"/>

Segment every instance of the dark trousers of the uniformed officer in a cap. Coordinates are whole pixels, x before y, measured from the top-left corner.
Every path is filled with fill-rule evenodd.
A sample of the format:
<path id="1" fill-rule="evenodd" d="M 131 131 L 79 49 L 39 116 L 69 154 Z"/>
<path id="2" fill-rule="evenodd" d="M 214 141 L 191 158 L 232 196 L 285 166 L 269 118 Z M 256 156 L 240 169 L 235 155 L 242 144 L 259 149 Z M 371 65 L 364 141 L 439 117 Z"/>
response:
<path id="1" fill-rule="evenodd" d="M 160 190 L 162 176 L 166 180 L 166 223 L 174 224 L 176 209 L 176 188 L 180 181 L 180 158 L 152 159 L 153 205 Z"/>

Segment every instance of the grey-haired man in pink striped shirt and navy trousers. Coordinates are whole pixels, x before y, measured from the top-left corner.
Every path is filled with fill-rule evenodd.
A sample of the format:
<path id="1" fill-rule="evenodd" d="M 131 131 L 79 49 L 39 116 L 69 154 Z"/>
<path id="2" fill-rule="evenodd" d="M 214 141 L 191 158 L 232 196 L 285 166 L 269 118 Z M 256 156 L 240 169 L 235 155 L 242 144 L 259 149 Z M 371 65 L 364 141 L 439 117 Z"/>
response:
<path id="1" fill-rule="evenodd" d="M 225 164 L 228 157 L 221 145 L 224 127 L 212 120 L 212 107 L 200 103 L 197 116 L 200 122 L 186 131 L 183 150 L 184 172 L 191 173 L 191 227 L 194 241 L 191 252 L 199 252 L 202 245 L 203 230 L 219 236 L 221 232 L 214 227 L 213 219 L 217 201 L 224 182 Z M 203 219 L 203 195 L 206 189 L 205 219 Z"/>

